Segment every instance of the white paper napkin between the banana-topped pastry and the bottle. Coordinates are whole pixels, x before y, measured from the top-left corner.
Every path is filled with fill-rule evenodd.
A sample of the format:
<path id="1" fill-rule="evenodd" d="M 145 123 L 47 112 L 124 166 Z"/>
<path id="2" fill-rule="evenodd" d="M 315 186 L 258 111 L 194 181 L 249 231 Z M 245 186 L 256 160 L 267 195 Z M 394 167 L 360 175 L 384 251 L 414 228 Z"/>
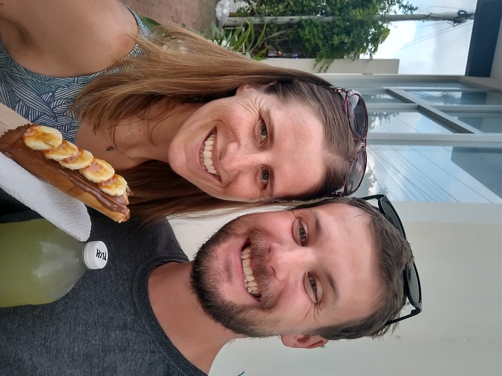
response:
<path id="1" fill-rule="evenodd" d="M 33 175 L 2 153 L 0 187 L 75 239 L 84 242 L 89 238 L 91 220 L 83 203 Z"/>

